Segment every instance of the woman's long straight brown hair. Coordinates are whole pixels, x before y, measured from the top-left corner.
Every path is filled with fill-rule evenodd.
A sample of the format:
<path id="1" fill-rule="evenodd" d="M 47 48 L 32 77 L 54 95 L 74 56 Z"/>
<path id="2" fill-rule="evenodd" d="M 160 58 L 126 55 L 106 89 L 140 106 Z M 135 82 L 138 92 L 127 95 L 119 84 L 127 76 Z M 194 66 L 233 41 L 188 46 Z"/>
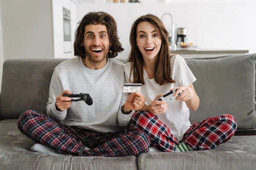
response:
<path id="1" fill-rule="evenodd" d="M 168 31 L 166 30 L 163 22 L 157 16 L 153 14 L 146 14 L 139 17 L 131 26 L 130 33 L 130 45 L 131 52 L 128 57 L 128 62 L 131 62 L 131 73 L 130 73 L 130 81 L 131 75 L 133 74 L 133 82 L 132 83 L 142 83 L 144 82 L 143 77 L 143 57 L 140 52 L 140 49 L 137 46 L 137 27 L 139 23 L 148 22 L 153 24 L 156 28 L 157 33 L 159 34 L 162 44 L 160 51 L 157 54 L 157 60 L 154 66 L 154 81 L 159 85 L 165 85 L 168 83 L 174 83 L 175 80 L 171 77 L 171 64 L 170 64 L 170 52 L 169 52 L 169 41 L 168 41 Z"/>

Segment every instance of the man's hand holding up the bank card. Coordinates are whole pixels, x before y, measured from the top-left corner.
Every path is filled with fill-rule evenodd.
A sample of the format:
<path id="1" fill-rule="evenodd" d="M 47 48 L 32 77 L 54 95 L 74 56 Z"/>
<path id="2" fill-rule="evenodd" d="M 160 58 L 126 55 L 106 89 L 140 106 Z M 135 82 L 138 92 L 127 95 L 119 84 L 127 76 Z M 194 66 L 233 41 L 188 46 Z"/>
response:
<path id="1" fill-rule="evenodd" d="M 124 112 L 137 111 L 144 105 L 145 101 L 145 97 L 140 92 L 130 94 L 125 102 Z"/>

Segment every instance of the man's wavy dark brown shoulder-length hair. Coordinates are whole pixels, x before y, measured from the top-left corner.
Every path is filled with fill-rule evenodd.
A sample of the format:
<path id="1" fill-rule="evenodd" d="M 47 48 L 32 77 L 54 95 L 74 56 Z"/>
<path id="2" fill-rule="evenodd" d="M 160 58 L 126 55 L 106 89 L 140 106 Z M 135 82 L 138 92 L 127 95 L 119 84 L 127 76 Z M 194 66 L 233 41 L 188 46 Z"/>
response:
<path id="1" fill-rule="evenodd" d="M 121 42 L 119 42 L 116 21 L 114 18 L 105 12 L 88 12 L 83 19 L 78 23 L 76 28 L 75 42 L 74 42 L 74 55 L 77 57 L 85 58 L 85 50 L 82 42 L 84 41 L 84 27 L 87 25 L 104 25 L 107 27 L 110 43 L 108 58 L 114 58 L 119 52 L 124 51 Z"/>

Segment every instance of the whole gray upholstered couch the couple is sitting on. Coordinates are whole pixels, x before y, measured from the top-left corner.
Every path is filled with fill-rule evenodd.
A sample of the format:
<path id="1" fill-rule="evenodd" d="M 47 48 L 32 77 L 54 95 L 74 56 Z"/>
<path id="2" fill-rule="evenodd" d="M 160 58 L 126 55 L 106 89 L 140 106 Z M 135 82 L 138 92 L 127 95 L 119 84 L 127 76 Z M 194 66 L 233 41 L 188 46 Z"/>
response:
<path id="1" fill-rule="evenodd" d="M 117 58 L 118 59 L 118 58 Z M 9 59 L 0 94 L 0 170 L 256 170 L 256 136 L 233 136 L 213 150 L 148 152 L 125 157 L 69 157 L 32 152 L 35 144 L 17 129 L 33 109 L 46 114 L 53 69 L 66 59 Z M 119 59 L 126 62 L 126 59 Z M 186 59 L 200 98 L 190 121 L 231 114 L 238 129 L 256 128 L 256 54 Z"/>

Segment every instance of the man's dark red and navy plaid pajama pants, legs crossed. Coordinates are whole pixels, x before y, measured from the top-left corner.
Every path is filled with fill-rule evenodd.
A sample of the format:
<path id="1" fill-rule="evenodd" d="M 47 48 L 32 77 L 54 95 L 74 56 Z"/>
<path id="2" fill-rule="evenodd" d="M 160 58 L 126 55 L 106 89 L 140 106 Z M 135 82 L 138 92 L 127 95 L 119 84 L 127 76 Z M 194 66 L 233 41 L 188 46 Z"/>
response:
<path id="1" fill-rule="evenodd" d="M 100 133 L 66 126 L 33 110 L 24 111 L 17 124 L 20 132 L 33 141 L 73 156 L 138 156 L 150 146 L 148 136 L 141 130 Z"/>

